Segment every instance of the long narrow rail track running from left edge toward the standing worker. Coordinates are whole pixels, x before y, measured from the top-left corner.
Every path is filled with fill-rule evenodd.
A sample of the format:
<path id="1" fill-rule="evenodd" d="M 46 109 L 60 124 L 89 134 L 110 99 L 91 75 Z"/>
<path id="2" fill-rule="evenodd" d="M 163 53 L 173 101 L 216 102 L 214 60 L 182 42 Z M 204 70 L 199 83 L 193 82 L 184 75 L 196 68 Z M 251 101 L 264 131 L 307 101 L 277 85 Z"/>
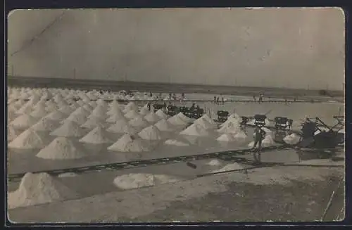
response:
<path id="1" fill-rule="evenodd" d="M 284 150 L 290 149 L 288 146 L 270 146 L 261 149 L 261 152 L 267 151 L 275 151 L 275 150 Z M 130 162 L 118 162 L 118 163 L 111 163 L 111 164 L 103 164 L 103 165 L 91 165 L 91 166 L 82 166 L 82 167 L 70 167 L 66 169 L 60 170 L 40 170 L 35 171 L 32 173 L 42 173 L 46 172 L 51 174 L 52 176 L 57 176 L 58 174 L 63 174 L 67 172 L 74 172 L 77 174 L 82 174 L 84 172 L 100 172 L 103 170 L 124 170 L 127 168 L 134 168 L 134 167 L 146 167 L 150 165 L 165 165 L 165 164 L 172 164 L 177 162 L 188 162 L 191 160 L 205 160 L 210 158 L 217 158 L 220 160 L 232 160 L 234 162 L 254 165 L 255 162 L 253 160 L 249 160 L 246 158 L 240 158 L 240 155 L 246 155 L 247 153 L 251 153 L 252 151 L 248 148 L 235 150 L 235 151 L 224 151 L 224 152 L 217 152 L 217 153 L 206 153 L 206 154 L 198 154 L 198 155 L 181 155 L 172 158 L 156 158 L 151 160 L 134 160 Z M 269 163 L 269 165 L 274 165 Z M 20 181 L 22 177 L 27 172 L 18 173 L 18 174 L 8 174 L 8 181 Z"/>

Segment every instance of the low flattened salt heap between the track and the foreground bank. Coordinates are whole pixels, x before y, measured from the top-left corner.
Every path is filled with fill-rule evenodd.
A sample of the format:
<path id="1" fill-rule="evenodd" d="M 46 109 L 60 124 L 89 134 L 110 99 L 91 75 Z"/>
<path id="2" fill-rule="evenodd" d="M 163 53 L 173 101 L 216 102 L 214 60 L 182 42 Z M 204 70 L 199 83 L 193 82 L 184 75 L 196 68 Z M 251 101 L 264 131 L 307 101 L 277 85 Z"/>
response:
<path id="1" fill-rule="evenodd" d="M 157 186 L 159 184 L 175 183 L 180 181 L 177 177 L 163 174 L 130 173 L 116 177 L 113 184 L 119 189 L 137 189 L 146 186 Z"/>

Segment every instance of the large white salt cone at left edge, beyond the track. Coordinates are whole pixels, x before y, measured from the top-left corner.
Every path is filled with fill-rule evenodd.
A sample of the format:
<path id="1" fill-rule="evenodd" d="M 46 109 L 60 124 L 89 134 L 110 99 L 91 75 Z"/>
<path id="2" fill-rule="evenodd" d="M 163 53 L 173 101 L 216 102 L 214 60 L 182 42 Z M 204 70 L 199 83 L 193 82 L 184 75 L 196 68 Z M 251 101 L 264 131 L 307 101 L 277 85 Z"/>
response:
<path id="1" fill-rule="evenodd" d="M 46 145 L 44 136 L 38 134 L 33 129 L 27 129 L 25 132 L 17 136 L 13 141 L 8 143 L 9 148 L 32 149 L 42 148 Z"/>

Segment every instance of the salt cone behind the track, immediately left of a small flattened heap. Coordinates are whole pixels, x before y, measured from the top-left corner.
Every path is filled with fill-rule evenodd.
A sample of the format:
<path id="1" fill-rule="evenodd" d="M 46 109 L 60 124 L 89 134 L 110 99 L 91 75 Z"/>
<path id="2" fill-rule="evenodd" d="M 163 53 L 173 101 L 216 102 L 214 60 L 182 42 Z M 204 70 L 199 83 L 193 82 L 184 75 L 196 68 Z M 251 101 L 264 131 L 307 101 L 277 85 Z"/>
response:
<path id="1" fill-rule="evenodd" d="M 134 136 L 129 134 L 123 135 L 113 145 L 108 147 L 109 151 L 119 152 L 142 152 L 149 151 L 149 148 L 144 146 L 141 140 L 136 139 Z"/>

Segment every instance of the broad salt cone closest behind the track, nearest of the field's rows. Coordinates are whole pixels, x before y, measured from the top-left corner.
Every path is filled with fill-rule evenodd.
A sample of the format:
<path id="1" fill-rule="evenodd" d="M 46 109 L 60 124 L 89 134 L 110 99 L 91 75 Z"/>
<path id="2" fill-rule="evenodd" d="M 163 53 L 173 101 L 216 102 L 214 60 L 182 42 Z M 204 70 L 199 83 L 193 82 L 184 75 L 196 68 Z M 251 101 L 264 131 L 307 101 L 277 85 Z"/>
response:
<path id="1" fill-rule="evenodd" d="M 48 146 L 37 153 L 38 158 L 50 160 L 70 160 L 84 158 L 84 148 L 66 137 L 56 137 Z"/>

